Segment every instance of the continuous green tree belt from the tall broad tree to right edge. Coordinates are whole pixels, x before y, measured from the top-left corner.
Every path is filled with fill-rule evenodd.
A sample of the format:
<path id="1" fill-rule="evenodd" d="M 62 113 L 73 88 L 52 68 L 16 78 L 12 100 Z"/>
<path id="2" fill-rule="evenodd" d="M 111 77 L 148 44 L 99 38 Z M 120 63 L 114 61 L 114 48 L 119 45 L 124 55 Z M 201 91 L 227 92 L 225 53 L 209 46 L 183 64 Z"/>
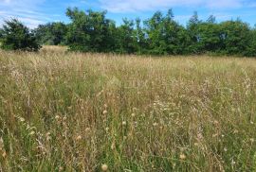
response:
<path id="1" fill-rule="evenodd" d="M 67 9 L 71 23 L 67 26 L 66 43 L 70 50 L 153 55 L 238 55 L 256 56 L 256 32 L 237 19 L 217 23 L 207 21 L 195 12 L 187 26 L 174 20 L 172 9 L 167 14 L 155 12 L 141 22 L 123 20 L 121 26 L 105 18 L 106 12 Z M 143 24 L 143 25 L 142 25 Z"/>

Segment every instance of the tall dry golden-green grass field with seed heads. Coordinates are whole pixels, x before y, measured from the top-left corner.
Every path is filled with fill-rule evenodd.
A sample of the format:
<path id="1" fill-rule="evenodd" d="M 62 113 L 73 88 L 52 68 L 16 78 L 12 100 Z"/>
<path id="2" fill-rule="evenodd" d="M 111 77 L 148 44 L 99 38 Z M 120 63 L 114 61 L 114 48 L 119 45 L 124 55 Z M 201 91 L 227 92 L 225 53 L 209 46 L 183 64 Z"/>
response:
<path id="1" fill-rule="evenodd" d="M 255 171 L 256 60 L 0 52 L 0 171 Z"/>

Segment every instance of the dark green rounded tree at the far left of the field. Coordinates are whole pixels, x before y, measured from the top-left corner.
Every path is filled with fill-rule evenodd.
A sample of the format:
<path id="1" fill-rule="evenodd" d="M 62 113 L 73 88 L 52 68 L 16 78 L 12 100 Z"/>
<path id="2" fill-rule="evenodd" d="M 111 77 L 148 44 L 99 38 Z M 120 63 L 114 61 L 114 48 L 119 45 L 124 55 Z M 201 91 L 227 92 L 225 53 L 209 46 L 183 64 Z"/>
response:
<path id="1" fill-rule="evenodd" d="M 38 51 L 41 46 L 36 37 L 16 19 L 5 21 L 1 29 L 1 48 L 5 50 Z"/>

